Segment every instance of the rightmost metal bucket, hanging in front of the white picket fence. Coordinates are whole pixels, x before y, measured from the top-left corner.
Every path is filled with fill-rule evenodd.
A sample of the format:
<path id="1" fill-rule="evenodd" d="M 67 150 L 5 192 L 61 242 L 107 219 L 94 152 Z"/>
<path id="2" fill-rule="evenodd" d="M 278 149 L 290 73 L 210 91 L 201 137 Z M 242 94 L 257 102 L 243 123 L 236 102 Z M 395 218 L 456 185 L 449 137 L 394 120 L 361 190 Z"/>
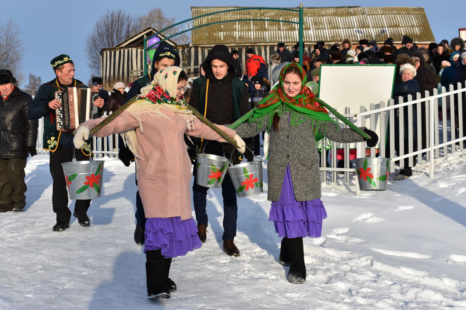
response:
<path id="1" fill-rule="evenodd" d="M 356 173 L 361 191 L 385 191 L 390 174 L 390 158 L 356 158 Z"/>

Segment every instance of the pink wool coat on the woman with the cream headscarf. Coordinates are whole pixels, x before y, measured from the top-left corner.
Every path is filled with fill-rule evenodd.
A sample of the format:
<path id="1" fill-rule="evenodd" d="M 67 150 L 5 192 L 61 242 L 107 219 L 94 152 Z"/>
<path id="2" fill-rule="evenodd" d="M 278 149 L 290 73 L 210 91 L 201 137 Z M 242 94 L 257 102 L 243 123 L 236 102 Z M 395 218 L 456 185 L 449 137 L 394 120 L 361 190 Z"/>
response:
<path id="1" fill-rule="evenodd" d="M 139 114 L 143 133 L 139 128 L 137 116 L 123 111 L 117 118 L 96 132 L 97 137 L 106 137 L 136 128 L 138 160 L 137 183 L 144 204 L 146 218 L 181 217 L 192 218 L 191 213 L 191 161 L 186 150 L 183 134 L 208 140 L 226 142 L 216 132 L 199 119 L 192 122 L 193 129 L 181 115 L 171 110 L 160 110 L 173 122 L 144 112 Z M 89 119 L 82 123 L 94 128 L 101 119 Z M 230 137 L 236 132 L 225 126 L 217 125 Z"/>

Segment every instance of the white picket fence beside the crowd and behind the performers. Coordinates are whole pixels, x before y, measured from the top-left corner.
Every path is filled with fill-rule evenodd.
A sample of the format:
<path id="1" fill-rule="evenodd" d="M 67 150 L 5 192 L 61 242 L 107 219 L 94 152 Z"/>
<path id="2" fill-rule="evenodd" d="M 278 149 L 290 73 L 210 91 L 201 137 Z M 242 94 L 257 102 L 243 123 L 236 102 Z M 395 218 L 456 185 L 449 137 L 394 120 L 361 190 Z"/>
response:
<path id="1" fill-rule="evenodd" d="M 391 169 L 390 172 L 395 172 L 395 165 L 397 164 L 400 169 L 404 168 L 404 158 L 409 158 L 409 166 L 413 165 L 413 156 L 417 156 L 417 163 L 422 164 L 423 162 L 429 162 L 429 176 L 433 178 L 434 173 L 434 160 L 440 156 L 445 156 L 448 152 L 454 153 L 457 151 L 462 151 L 464 149 L 463 141 L 466 140 L 465 134 L 463 132 L 463 106 L 462 106 L 462 94 L 466 92 L 466 88 L 463 88 L 460 83 L 458 83 L 458 90 L 454 91 L 453 86 L 450 85 L 449 90 L 442 87 L 440 93 L 437 89 L 434 90 L 433 95 L 430 96 L 429 92 L 425 92 L 424 98 L 421 98 L 421 94 L 417 93 L 416 99 L 412 100 L 411 96 L 408 96 L 408 101 L 403 103 L 403 98 L 400 97 L 399 103 L 394 104 L 394 100 L 390 99 L 385 105 L 383 101 L 378 104 L 371 104 L 369 110 L 366 107 L 361 106 L 358 113 L 354 111 L 349 111 L 349 108 L 345 108 L 343 116 L 356 123 L 357 126 L 366 126 L 371 130 L 375 131 L 376 122 L 380 122 L 378 128 L 380 130 L 377 132 L 380 141 L 380 155 L 382 157 L 391 158 Z M 456 135 L 455 132 L 455 94 L 457 94 L 457 107 L 458 107 L 458 127 L 459 134 Z M 439 106 L 439 102 L 441 105 Z M 448 103 L 449 102 L 449 103 Z M 417 151 L 413 151 L 413 119 L 412 119 L 412 108 L 416 105 L 417 108 Z M 400 154 L 395 156 L 395 112 L 396 109 L 400 107 L 408 107 L 408 149 L 404 150 L 403 143 L 400 143 Z M 422 115 L 422 108 L 425 108 L 425 115 Z M 439 117 L 439 108 L 442 111 L 442 118 Z M 450 112 L 450 120 L 447 119 L 447 113 Z M 404 109 L 399 109 L 399 139 L 404 141 Z M 108 115 L 107 113 L 103 114 Z M 335 116 L 330 115 L 333 119 L 340 123 L 342 127 L 348 127 L 343 124 L 340 120 L 336 119 Z M 426 147 L 422 149 L 422 130 L 421 130 L 421 117 L 425 117 L 425 132 L 426 132 Z M 389 123 L 389 124 L 388 124 Z M 387 125 L 390 125 L 390 132 L 388 136 L 390 137 L 390 154 L 385 154 L 386 146 L 384 142 L 384 137 L 386 136 Z M 39 154 L 48 154 L 48 151 L 42 149 L 42 130 L 43 130 L 43 119 L 39 123 L 39 135 L 37 139 L 37 150 Z M 93 138 L 94 142 L 94 157 L 102 158 L 103 156 L 109 156 L 113 158 L 118 158 L 118 138 L 117 135 L 112 135 L 108 138 Z M 459 143 L 459 145 L 456 145 Z M 332 154 L 336 154 L 336 143 L 332 143 Z M 356 154 L 357 158 L 365 157 L 366 152 L 370 152 L 370 157 L 375 157 L 377 152 L 377 147 L 370 148 L 370 151 L 366 150 L 365 143 L 357 143 Z M 424 154 L 423 154 L 424 153 Z M 423 154 L 423 156 L 419 155 Z M 333 182 L 336 183 L 338 180 L 342 180 L 344 183 L 349 183 L 350 178 L 349 174 L 355 172 L 355 168 L 349 168 L 349 145 L 344 146 L 344 158 L 345 158 L 345 167 L 337 168 L 337 159 L 336 156 L 331 156 L 330 165 L 327 155 L 321 156 L 321 174 L 322 182 Z M 339 175 L 338 171 L 343 171 L 344 173 Z"/>

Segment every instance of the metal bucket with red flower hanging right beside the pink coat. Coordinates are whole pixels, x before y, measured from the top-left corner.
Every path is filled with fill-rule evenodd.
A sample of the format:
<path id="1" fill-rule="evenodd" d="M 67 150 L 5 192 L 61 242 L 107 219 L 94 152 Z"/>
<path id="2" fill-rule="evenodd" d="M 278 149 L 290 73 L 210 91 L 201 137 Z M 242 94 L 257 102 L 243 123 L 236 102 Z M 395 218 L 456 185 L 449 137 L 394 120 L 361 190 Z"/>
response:
<path id="1" fill-rule="evenodd" d="M 197 181 L 201 186 L 220 188 L 230 159 L 211 154 L 197 154 Z"/>

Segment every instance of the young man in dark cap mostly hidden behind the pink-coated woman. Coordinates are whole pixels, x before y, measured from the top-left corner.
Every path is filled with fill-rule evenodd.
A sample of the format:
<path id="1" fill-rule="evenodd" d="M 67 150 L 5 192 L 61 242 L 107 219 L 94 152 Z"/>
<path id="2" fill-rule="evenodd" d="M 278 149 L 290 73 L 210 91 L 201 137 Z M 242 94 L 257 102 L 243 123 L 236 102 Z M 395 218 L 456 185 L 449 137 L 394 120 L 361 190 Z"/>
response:
<path id="1" fill-rule="evenodd" d="M 165 43 L 160 43 L 157 49 L 155 50 L 154 57 L 152 58 L 151 72 L 142 78 L 137 79 L 133 82 L 133 86 L 126 95 L 125 103 L 141 93 L 141 88 L 146 86 L 154 79 L 154 75 L 158 70 L 162 70 L 164 67 L 168 66 L 179 66 L 180 58 L 175 49 Z M 121 159 L 125 166 L 129 166 L 134 155 L 131 151 L 124 145 L 123 139 L 118 136 L 118 146 L 119 152 L 118 157 Z M 136 179 L 137 185 L 137 179 Z M 141 197 L 139 196 L 139 191 L 136 192 L 136 229 L 134 231 L 134 241 L 137 244 L 144 244 L 144 231 L 145 231 L 145 214 L 144 207 Z"/>

